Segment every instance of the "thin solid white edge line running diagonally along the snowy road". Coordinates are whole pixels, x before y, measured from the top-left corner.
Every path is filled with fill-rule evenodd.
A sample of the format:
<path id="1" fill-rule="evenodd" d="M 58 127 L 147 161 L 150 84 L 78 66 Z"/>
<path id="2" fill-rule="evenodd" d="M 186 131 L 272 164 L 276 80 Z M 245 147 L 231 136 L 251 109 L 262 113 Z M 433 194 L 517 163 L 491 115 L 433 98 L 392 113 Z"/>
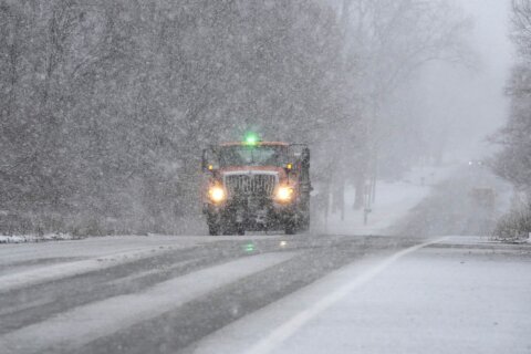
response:
<path id="1" fill-rule="evenodd" d="M 291 319 L 289 319 L 281 325 L 277 326 L 269 335 L 260 340 L 256 345 L 253 345 L 251 348 L 249 348 L 244 353 L 246 354 L 271 353 L 274 348 L 277 348 L 283 342 L 290 339 L 295 332 L 298 332 L 303 325 L 310 322 L 313 317 L 324 312 L 326 309 L 329 309 L 336 302 L 341 301 L 343 298 L 345 298 L 348 293 L 351 293 L 355 289 L 371 281 L 373 278 L 378 275 L 382 271 L 384 271 L 387 267 L 396 262 L 402 257 L 408 253 L 415 252 L 426 246 L 438 243 L 445 239 L 447 238 L 445 237 L 445 238 L 437 239 L 435 241 L 417 244 L 391 256 L 389 258 L 383 260 L 373 269 L 363 273 L 361 277 L 355 278 L 352 282 L 346 283 L 345 285 L 339 288 L 336 291 L 323 298 L 312 306 L 293 315 Z"/>

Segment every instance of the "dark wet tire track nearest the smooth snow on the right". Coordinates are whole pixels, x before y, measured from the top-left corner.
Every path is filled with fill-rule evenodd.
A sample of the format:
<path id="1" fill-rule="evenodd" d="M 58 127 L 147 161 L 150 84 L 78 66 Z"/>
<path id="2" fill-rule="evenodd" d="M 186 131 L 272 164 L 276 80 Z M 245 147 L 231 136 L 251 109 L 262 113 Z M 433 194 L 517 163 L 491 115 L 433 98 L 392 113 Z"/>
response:
<path id="1" fill-rule="evenodd" d="M 294 243 L 298 242 L 295 239 Z M 177 353 L 331 271 L 364 258 L 366 253 L 387 253 L 418 242 L 418 239 L 378 237 L 326 236 L 306 239 L 303 244 L 293 244 L 294 249 L 302 251 L 301 254 L 282 264 L 228 284 L 156 319 L 101 337 L 75 353 Z M 320 247 L 304 249 L 304 243 L 320 243 Z M 288 244 L 291 242 L 288 241 Z"/>

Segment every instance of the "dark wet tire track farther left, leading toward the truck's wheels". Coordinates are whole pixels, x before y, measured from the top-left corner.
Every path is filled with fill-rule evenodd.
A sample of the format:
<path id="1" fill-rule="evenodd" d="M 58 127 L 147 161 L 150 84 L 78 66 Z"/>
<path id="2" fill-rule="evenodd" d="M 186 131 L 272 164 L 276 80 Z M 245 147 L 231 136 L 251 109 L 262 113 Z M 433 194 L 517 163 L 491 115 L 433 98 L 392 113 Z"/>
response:
<path id="1" fill-rule="evenodd" d="M 0 334 L 69 309 L 142 291 L 156 283 L 244 256 L 227 242 L 179 249 L 149 259 L 0 294 Z"/>

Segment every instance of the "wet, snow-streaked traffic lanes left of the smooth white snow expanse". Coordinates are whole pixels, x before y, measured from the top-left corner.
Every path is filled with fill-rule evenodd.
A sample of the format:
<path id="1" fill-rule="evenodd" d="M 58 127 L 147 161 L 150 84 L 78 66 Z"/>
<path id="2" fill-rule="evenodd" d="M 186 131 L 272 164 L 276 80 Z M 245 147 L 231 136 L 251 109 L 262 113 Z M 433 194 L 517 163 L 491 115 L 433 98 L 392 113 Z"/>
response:
<path id="1" fill-rule="evenodd" d="M 147 253 L 101 269 L 87 266 L 86 271 L 74 273 L 67 267 L 83 259 L 73 262 L 69 254 L 40 259 L 40 248 L 49 246 L 31 244 L 34 259 L 14 258 L 2 264 L 0 346 L 2 353 L 175 353 L 345 264 L 418 242 L 386 237 L 235 237 L 154 252 L 152 257 Z M 60 250 L 62 244 L 54 247 Z M 246 262 L 252 259 L 258 268 L 232 274 L 249 268 Z M 28 262 L 32 268 L 27 268 Z M 225 264 L 232 266 L 219 269 Z M 56 271 L 62 266 L 64 273 L 55 277 L 37 279 L 42 281 L 30 277 L 34 269 L 42 277 L 46 268 Z M 205 273 L 207 270 L 214 273 Z M 187 289 L 168 283 L 184 277 L 190 279 L 184 283 Z M 12 278 L 27 281 L 13 282 Z M 177 299 L 171 305 L 167 300 L 197 290 L 201 283 L 204 290 L 186 301 Z M 150 299 L 166 299 L 157 300 L 163 311 Z M 123 322 L 97 322 L 110 314 L 110 321 L 123 316 Z"/>

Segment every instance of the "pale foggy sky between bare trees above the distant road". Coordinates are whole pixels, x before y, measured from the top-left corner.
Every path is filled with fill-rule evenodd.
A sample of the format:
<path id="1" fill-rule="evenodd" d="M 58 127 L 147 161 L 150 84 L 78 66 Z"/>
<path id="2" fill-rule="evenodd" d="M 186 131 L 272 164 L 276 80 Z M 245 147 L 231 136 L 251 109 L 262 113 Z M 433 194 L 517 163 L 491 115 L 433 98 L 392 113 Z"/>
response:
<path id="1" fill-rule="evenodd" d="M 503 94 L 512 64 L 509 40 L 510 0 L 452 0 L 473 22 L 469 43 L 472 67 L 435 63 L 425 70 L 412 95 L 420 100 L 431 138 L 444 132 L 450 158 L 468 159 L 489 155 L 494 146 L 487 136 L 507 118 Z"/>

